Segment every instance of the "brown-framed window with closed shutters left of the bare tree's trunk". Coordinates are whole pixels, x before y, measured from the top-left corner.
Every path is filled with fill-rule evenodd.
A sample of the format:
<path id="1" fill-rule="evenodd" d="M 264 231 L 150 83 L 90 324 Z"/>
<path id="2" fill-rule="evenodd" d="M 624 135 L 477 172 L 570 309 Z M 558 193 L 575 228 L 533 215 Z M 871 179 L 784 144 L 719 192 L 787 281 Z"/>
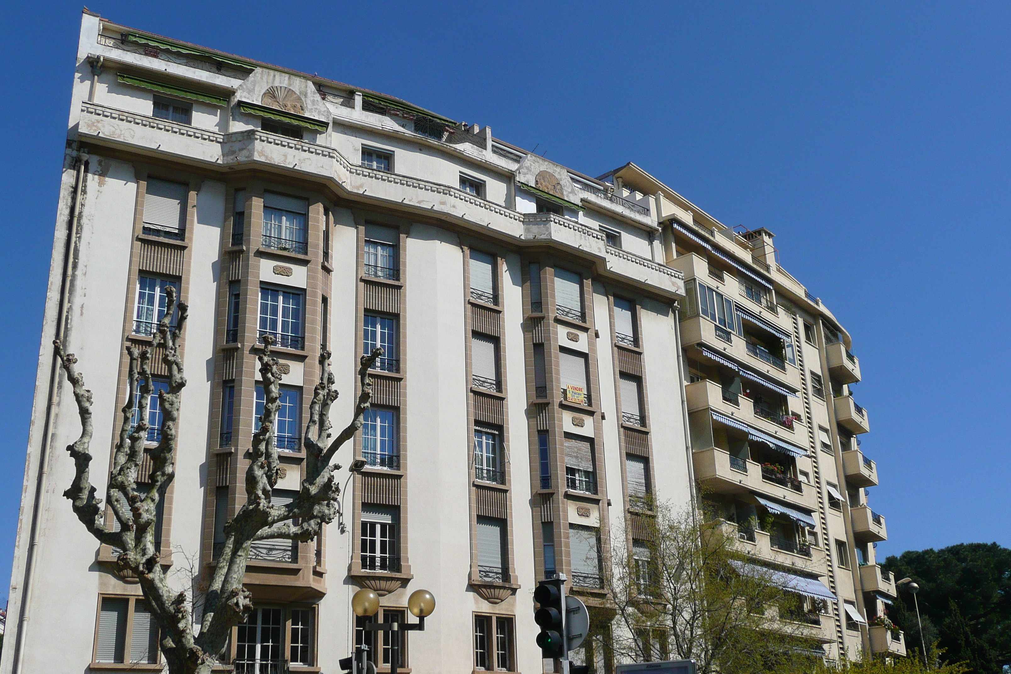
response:
<path id="1" fill-rule="evenodd" d="M 128 645 L 126 625 L 131 628 Z M 95 662 L 158 664 L 158 622 L 142 597 L 101 597 Z"/>

